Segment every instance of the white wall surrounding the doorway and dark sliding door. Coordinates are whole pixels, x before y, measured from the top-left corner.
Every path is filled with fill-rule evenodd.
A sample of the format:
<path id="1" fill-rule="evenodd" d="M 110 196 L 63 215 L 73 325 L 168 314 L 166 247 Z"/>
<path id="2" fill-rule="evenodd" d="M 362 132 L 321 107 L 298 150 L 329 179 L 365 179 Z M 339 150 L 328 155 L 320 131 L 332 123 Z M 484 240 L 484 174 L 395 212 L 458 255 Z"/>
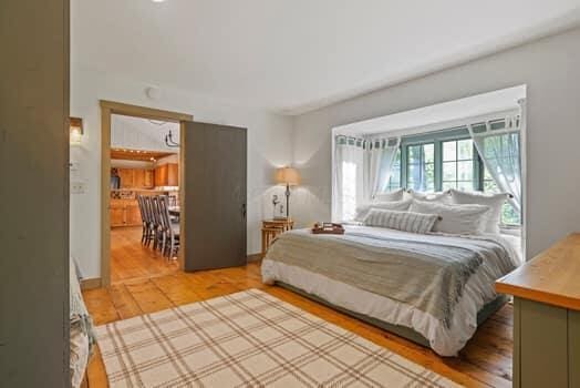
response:
<path id="1" fill-rule="evenodd" d="M 99 100 L 190 113 L 194 120 L 248 129 L 248 253 L 260 251 L 260 221 L 265 193 L 271 192 L 276 166 L 292 159 L 292 120 L 256 109 L 210 101 L 191 93 L 162 88 L 158 101 L 145 96 L 146 83 L 71 69 L 71 115 L 83 118 L 84 136 L 71 149 L 77 171 L 71 180 L 84 181 L 86 192 L 71 195 L 71 255 L 83 276 L 100 276 L 101 118 Z M 280 193 L 282 193 L 280 191 Z M 269 215 L 266 215 L 269 216 Z"/>

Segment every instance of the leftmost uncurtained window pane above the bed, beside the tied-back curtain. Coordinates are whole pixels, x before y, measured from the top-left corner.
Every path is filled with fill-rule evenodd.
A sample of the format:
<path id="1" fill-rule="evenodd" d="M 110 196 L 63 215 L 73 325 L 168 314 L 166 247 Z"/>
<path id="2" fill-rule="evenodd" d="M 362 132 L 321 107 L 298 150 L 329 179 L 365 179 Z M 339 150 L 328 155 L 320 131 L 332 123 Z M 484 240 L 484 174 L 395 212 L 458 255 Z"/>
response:
<path id="1" fill-rule="evenodd" d="M 435 144 L 408 145 L 406 162 L 407 188 L 435 191 Z"/>

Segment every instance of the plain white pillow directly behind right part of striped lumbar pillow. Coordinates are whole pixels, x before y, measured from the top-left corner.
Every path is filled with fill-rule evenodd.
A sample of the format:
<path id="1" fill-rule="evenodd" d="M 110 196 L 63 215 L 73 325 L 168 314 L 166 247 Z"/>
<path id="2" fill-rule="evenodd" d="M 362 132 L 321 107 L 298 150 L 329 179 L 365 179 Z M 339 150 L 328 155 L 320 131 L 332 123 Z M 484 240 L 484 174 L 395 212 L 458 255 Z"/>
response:
<path id="1" fill-rule="evenodd" d="M 434 232 L 449 234 L 481 234 L 485 231 L 489 206 L 446 205 L 414 200 L 408 210 L 415 213 L 437 214 Z"/>

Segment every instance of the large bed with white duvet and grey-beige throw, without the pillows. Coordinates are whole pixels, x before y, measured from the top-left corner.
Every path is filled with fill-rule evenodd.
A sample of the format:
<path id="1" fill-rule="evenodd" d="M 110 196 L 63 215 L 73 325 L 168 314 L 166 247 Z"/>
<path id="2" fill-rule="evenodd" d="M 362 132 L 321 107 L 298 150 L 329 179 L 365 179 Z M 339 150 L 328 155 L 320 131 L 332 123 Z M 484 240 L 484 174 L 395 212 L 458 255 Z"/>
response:
<path id="1" fill-rule="evenodd" d="M 414 234 L 346 225 L 344 235 L 297 229 L 262 261 L 262 280 L 456 356 L 506 299 L 495 279 L 518 265 L 499 235 Z"/>

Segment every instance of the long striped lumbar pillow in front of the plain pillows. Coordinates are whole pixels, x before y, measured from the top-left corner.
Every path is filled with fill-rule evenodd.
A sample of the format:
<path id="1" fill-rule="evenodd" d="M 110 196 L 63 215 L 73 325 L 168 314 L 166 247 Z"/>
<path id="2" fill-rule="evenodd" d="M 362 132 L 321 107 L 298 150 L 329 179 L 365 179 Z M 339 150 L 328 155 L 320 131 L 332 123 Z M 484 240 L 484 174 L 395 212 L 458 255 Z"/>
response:
<path id="1" fill-rule="evenodd" d="M 425 234 L 433 229 L 433 225 L 435 225 L 438 217 L 436 214 L 371 208 L 366 217 L 364 217 L 364 225 Z"/>

